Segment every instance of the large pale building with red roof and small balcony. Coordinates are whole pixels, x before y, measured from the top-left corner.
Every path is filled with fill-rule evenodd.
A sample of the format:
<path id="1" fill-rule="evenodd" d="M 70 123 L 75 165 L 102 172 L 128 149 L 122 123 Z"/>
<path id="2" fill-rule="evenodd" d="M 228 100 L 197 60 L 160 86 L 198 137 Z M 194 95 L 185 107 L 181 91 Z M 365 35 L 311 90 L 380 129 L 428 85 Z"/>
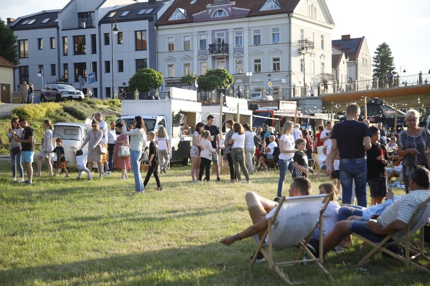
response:
<path id="1" fill-rule="evenodd" d="M 157 24 L 157 69 L 176 86 L 184 75 L 226 68 L 236 90 L 251 93 L 268 89 L 270 74 L 275 99 L 301 96 L 306 89 L 295 87 L 331 72 L 333 28 L 324 0 L 177 0 Z"/>

